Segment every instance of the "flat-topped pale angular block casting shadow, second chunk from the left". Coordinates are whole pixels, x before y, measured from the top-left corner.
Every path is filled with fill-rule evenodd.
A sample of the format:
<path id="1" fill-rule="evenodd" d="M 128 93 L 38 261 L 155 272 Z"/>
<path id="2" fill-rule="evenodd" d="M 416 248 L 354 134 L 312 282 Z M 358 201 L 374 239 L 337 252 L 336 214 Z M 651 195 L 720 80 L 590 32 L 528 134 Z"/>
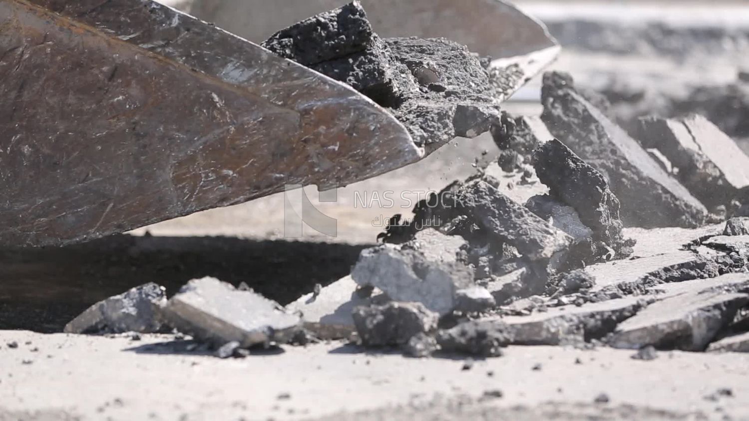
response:
<path id="1" fill-rule="evenodd" d="M 288 342 L 302 322 L 276 301 L 213 277 L 190 280 L 162 308 L 164 320 L 196 339 L 240 348 Z"/>

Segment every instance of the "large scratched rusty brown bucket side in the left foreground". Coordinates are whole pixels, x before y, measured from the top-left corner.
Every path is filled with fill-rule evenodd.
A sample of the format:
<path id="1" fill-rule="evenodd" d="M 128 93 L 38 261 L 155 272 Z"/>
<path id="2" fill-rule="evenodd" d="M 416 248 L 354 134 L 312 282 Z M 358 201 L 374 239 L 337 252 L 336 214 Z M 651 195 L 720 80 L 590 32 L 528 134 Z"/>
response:
<path id="1" fill-rule="evenodd" d="M 0 245 L 64 245 L 423 152 L 339 82 L 148 0 L 0 0 Z"/>

